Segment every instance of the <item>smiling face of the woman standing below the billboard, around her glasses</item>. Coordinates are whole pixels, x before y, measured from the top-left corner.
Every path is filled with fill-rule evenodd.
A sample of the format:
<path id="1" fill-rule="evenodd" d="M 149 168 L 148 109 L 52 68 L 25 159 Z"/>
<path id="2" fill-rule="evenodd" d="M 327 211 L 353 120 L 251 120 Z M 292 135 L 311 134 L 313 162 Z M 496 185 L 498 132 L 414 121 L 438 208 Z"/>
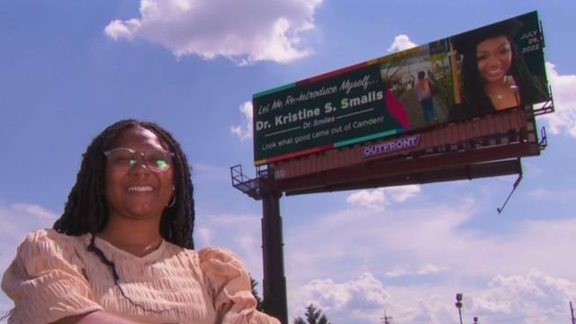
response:
<path id="1" fill-rule="evenodd" d="M 110 157 L 107 160 L 105 194 L 110 217 L 159 220 L 172 199 L 173 167 L 168 164 L 163 171 L 150 170 L 140 153 L 166 148 L 154 132 L 140 126 L 123 130 L 114 140 L 113 148 L 130 148 L 136 151 L 137 158 L 128 168 L 112 163 Z"/>

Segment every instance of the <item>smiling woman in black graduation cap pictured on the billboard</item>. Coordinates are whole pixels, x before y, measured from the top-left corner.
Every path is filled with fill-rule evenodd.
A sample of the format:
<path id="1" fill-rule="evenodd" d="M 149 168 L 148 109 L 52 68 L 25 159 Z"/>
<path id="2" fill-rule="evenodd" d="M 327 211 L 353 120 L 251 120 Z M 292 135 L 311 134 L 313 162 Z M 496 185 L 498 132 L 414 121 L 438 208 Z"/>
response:
<path id="1" fill-rule="evenodd" d="M 509 20 L 453 38 L 463 56 L 462 90 L 469 116 L 547 99 L 542 80 L 531 73 L 515 42 L 522 27 L 520 21 Z"/>

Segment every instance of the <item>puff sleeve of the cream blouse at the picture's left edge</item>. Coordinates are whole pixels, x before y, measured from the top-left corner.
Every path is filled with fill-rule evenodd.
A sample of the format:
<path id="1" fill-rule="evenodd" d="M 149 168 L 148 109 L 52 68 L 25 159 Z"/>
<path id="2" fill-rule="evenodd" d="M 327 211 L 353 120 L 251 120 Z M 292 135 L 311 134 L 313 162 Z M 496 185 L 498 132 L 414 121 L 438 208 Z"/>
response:
<path id="1" fill-rule="evenodd" d="M 2 278 L 4 293 L 14 301 L 8 322 L 49 323 L 102 310 L 83 274 L 72 239 L 52 229 L 32 232 Z"/>

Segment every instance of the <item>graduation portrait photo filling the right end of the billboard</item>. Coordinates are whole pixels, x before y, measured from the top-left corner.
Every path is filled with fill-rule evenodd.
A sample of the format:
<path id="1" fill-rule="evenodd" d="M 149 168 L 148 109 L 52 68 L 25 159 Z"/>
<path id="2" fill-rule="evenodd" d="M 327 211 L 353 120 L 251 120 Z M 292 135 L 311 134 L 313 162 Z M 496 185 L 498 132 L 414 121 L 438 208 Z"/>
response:
<path id="1" fill-rule="evenodd" d="M 459 70 L 450 120 L 550 99 L 544 37 L 536 12 L 467 31 L 449 41 L 457 62 L 453 68 Z"/>

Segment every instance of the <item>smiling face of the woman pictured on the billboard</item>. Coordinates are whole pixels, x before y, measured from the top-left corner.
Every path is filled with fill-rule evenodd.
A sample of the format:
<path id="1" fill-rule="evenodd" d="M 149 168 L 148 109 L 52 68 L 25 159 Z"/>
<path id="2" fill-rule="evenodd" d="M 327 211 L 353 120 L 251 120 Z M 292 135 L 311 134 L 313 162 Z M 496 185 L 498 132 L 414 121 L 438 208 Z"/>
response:
<path id="1" fill-rule="evenodd" d="M 478 72 L 487 83 L 501 82 L 512 65 L 512 49 L 506 36 L 492 37 L 476 46 Z"/>

